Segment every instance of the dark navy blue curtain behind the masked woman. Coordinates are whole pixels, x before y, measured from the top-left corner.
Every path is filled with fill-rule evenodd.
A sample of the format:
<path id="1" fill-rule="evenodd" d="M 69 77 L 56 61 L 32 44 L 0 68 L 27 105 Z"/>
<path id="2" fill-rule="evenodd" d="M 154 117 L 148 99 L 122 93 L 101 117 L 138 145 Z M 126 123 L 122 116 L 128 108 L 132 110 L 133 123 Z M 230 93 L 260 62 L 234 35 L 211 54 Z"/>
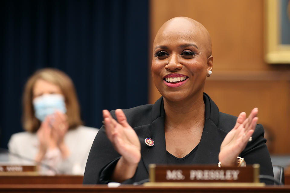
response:
<path id="1" fill-rule="evenodd" d="M 11 134 L 23 131 L 23 87 L 43 67 L 72 78 L 87 126 L 101 127 L 102 109 L 147 103 L 147 0 L 1 4 L 1 147 L 7 147 Z"/>

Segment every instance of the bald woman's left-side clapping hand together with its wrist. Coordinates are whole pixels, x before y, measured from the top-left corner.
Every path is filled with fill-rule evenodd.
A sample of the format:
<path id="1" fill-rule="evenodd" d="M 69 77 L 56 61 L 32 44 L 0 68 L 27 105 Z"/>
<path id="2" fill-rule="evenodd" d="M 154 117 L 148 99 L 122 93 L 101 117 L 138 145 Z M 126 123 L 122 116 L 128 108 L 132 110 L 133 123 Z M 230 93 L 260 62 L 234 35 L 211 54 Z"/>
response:
<path id="1" fill-rule="evenodd" d="M 112 180 L 123 182 L 134 176 L 141 159 L 141 144 L 134 129 L 128 124 L 126 116 L 121 109 L 116 109 L 118 122 L 113 119 L 108 110 L 103 110 L 106 134 L 115 150 L 121 154 Z"/>

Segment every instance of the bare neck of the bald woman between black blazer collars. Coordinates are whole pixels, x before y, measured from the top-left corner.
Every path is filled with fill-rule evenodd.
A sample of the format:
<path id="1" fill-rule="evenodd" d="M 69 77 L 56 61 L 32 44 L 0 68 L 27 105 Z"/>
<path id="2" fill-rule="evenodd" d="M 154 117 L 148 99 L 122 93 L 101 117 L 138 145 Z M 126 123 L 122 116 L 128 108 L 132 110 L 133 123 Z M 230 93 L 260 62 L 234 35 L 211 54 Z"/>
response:
<path id="1" fill-rule="evenodd" d="M 203 129 L 205 122 L 205 103 L 203 93 L 191 99 L 172 102 L 164 98 L 165 130 Z"/>

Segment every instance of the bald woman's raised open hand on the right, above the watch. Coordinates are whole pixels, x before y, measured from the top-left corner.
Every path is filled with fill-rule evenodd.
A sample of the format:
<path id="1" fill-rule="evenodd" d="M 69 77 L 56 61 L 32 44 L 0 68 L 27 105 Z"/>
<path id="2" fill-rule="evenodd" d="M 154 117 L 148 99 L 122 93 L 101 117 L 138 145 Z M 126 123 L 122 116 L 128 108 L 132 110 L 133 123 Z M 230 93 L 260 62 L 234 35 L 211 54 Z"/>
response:
<path id="1" fill-rule="evenodd" d="M 226 135 L 221 144 L 218 159 L 222 166 L 236 166 L 237 156 L 245 149 L 258 121 L 258 108 L 254 108 L 246 119 L 246 113 L 240 113 L 236 125 Z"/>

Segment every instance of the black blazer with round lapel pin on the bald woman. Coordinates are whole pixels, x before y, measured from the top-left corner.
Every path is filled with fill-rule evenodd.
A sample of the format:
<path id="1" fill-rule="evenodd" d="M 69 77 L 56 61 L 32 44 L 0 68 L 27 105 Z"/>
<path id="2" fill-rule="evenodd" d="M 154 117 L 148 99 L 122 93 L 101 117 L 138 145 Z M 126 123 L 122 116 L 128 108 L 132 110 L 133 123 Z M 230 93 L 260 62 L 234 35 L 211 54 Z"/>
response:
<path id="1" fill-rule="evenodd" d="M 204 93 L 205 125 L 201 140 L 192 164 L 218 164 L 220 146 L 227 133 L 234 128 L 237 117 L 219 112 L 216 104 Z M 129 125 L 136 131 L 141 143 L 141 160 L 132 179 L 123 183 L 132 184 L 148 178 L 150 163 L 166 163 L 166 144 L 164 134 L 165 111 L 163 97 L 154 105 L 142 105 L 123 110 Z M 115 118 L 114 110 L 111 115 Z M 154 140 L 153 146 L 145 144 L 145 139 Z M 247 164 L 259 163 L 260 174 L 273 176 L 272 163 L 264 139 L 263 126 L 258 124 L 240 154 Z M 103 184 L 112 182 L 110 176 L 120 158 L 105 134 L 104 126 L 98 131 L 92 144 L 85 167 L 83 184 Z M 268 183 L 268 182 L 266 182 Z M 271 184 L 271 183 L 268 183 Z"/>

